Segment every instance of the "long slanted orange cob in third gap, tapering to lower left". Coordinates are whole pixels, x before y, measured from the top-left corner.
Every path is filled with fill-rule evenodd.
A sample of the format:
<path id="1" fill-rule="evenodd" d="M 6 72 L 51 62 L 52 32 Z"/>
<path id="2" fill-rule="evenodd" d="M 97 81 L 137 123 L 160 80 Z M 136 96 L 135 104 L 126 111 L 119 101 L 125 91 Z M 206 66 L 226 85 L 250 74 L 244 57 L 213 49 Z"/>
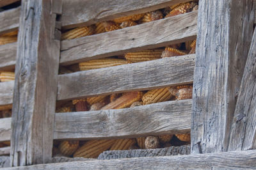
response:
<path id="1" fill-rule="evenodd" d="M 141 100 L 143 93 L 140 91 L 132 91 L 128 93 L 124 93 L 122 97 L 116 99 L 114 102 L 109 103 L 102 107 L 104 109 L 123 109 L 126 107 L 130 107 L 132 103 L 138 102 Z"/>

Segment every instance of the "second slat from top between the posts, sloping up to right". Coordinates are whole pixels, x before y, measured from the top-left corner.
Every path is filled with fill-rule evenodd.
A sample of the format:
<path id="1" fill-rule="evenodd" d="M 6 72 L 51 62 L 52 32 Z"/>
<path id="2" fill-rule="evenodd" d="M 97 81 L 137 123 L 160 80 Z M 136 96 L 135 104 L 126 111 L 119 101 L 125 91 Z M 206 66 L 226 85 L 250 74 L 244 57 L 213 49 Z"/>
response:
<path id="1" fill-rule="evenodd" d="M 197 12 L 61 42 L 61 65 L 163 47 L 196 38 Z"/>

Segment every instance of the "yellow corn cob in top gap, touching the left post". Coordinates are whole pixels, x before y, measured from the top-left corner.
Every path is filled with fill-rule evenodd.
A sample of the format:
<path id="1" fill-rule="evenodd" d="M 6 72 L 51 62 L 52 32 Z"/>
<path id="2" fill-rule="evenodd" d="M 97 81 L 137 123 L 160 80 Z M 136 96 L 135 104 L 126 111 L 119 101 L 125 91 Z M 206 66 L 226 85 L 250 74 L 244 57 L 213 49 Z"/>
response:
<path id="1" fill-rule="evenodd" d="M 93 26 L 85 26 L 85 27 L 77 27 L 75 29 L 71 29 L 66 33 L 61 35 L 61 40 L 70 40 L 74 38 L 80 38 L 83 36 L 93 35 L 95 31 L 95 27 Z"/>

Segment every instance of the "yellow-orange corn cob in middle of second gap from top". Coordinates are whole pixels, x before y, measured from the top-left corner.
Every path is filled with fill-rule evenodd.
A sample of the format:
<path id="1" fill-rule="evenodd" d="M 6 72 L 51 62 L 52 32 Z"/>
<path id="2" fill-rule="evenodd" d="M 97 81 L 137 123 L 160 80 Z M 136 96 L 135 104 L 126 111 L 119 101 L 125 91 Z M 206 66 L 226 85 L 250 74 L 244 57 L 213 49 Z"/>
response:
<path id="1" fill-rule="evenodd" d="M 131 62 L 150 61 L 161 58 L 163 50 L 143 50 L 139 52 L 128 52 L 125 59 Z"/>

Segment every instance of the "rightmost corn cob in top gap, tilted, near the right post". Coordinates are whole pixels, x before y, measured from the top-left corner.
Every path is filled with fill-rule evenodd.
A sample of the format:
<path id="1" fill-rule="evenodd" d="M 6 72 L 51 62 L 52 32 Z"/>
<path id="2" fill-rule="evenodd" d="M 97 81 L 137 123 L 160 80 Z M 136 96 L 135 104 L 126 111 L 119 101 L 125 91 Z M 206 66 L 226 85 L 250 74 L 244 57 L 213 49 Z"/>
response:
<path id="1" fill-rule="evenodd" d="M 179 15 L 182 13 L 191 12 L 195 6 L 196 3 L 194 2 L 181 4 L 180 6 L 173 8 L 173 10 L 170 13 L 168 13 L 168 15 L 165 16 L 165 18 Z"/>

